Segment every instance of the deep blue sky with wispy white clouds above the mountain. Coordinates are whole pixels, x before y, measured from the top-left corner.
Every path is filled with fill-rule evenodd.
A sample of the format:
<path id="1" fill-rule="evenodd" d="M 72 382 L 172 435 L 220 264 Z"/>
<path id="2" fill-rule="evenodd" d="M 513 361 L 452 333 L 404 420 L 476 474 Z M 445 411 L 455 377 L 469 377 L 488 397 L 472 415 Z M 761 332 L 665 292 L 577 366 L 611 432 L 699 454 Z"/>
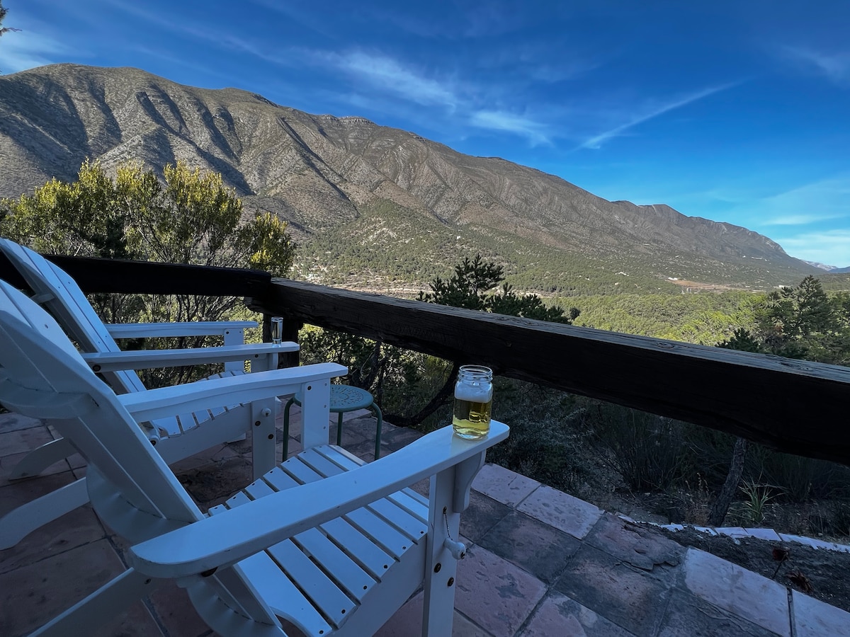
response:
<path id="1" fill-rule="evenodd" d="M 3 0 L 5 73 L 135 66 L 365 116 L 850 266 L 850 2 Z"/>

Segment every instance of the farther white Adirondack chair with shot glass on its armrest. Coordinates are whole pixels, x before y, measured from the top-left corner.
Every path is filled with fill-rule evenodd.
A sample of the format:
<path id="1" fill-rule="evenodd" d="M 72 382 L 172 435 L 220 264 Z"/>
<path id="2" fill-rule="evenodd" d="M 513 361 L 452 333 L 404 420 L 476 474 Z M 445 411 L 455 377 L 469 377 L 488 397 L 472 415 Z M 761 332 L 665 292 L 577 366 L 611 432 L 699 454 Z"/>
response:
<path id="1" fill-rule="evenodd" d="M 241 375 L 245 361 L 252 369 L 275 369 L 280 352 L 297 350 L 297 343 L 245 345 L 243 330 L 253 321 L 183 324 L 104 324 L 76 282 L 37 252 L 11 240 L 0 239 L 0 250 L 35 293 L 33 300 L 47 307 L 77 341 L 93 369 L 105 376 L 117 393 L 146 392 L 133 369 L 224 362 L 221 375 Z M 114 336 L 222 335 L 224 347 L 122 352 Z M 219 375 L 219 376 L 221 376 Z M 251 430 L 253 476 L 275 466 L 275 392 L 252 403 L 209 403 L 200 411 L 172 414 L 140 423 L 151 443 L 170 464 L 213 445 L 236 440 Z M 21 459 L 10 474 L 17 479 L 35 476 L 59 459 L 75 453 L 64 438 L 42 445 Z M 28 533 L 88 502 L 84 479 L 34 500 L 0 518 L 0 549 L 17 544 Z"/>

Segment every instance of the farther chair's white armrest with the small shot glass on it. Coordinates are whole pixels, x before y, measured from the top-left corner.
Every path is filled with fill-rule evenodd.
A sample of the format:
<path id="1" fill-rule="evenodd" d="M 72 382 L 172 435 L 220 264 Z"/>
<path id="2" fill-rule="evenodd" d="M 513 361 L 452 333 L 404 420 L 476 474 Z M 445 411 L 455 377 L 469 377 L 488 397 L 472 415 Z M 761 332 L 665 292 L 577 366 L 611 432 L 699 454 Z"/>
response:
<path id="1" fill-rule="evenodd" d="M 190 347 L 187 349 L 128 350 L 127 352 L 94 352 L 82 354 L 83 360 L 96 372 L 121 369 L 155 369 L 183 367 L 205 363 L 251 360 L 268 354 L 297 352 L 298 344 L 290 341 L 274 343 L 249 343 L 221 347 Z"/>

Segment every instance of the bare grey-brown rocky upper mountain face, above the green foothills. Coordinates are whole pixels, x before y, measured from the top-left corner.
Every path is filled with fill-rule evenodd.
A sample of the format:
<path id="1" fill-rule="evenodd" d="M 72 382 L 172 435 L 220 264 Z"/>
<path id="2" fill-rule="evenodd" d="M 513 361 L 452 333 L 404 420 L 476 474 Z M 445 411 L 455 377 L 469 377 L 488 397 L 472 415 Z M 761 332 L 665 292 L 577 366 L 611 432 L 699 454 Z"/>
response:
<path id="1" fill-rule="evenodd" d="M 603 261 L 643 255 L 638 261 L 649 268 L 650 257 L 667 255 L 666 262 L 702 262 L 709 272 L 728 262 L 813 271 L 746 228 L 669 206 L 607 201 L 561 178 L 360 117 L 312 116 L 257 94 L 185 87 L 137 69 L 51 65 L 0 76 L 0 196 L 72 179 L 86 157 L 107 168 L 184 160 L 221 172 L 248 209 L 286 218 L 304 243 L 364 211 L 392 210 L 403 212 L 406 232 L 437 223 Z M 760 262 L 747 261 L 753 257 Z"/>

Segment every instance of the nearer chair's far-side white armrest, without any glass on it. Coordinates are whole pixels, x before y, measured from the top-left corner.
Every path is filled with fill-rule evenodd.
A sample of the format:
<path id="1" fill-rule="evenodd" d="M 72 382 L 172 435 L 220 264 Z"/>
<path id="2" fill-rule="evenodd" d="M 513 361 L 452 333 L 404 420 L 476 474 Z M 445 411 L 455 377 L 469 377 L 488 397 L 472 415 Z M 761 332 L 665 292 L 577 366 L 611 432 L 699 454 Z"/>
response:
<path id="1" fill-rule="evenodd" d="M 145 422 L 208 409 L 213 403 L 252 403 L 263 398 L 300 392 L 305 383 L 327 381 L 345 374 L 348 374 L 348 368 L 343 365 L 318 363 L 159 387 L 147 392 L 121 394 L 116 398 L 135 420 Z"/>

